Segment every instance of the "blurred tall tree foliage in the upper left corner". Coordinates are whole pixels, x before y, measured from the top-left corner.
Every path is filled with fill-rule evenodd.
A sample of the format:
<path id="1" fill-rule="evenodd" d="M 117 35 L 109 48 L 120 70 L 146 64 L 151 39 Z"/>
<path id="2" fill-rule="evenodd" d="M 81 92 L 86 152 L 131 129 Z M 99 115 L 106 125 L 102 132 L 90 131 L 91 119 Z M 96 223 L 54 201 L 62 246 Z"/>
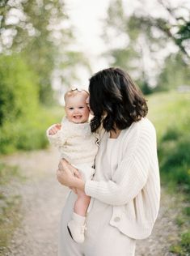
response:
<path id="1" fill-rule="evenodd" d="M 6 23 L 11 11 L 18 11 L 26 19 L 19 19 L 17 23 Z M 20 16 L 20 15 L 19 15 Z M 13 17 L 16 17 L 16 15 Z M 64 1 L 44 0 L 42 2 L 31 1 L 7 1 L 2 7 L 2 20 L 0 27 L 0 42 L 3 52 L 9 50 L 22 52 L 27 62 L 38 75 L 40 101 L 48 103 L 53 98 L 51 88 L 51 75 L 56 65 L 58 56 L 58 44 L 63 44 L 71 38 L 71 32 L 58 28 L 61 21 L 68 20 L 65 15 Z M 57 29 L 57 28 L 58 29 Z M 1 32 L 6 29 L 12 31 L 12 45 L 4 45 L 1 41 Z M 58 30 L 61 39 L 56 42 L 53 32 Z M 68 43 L 67 43 L 68 44 Z"/>

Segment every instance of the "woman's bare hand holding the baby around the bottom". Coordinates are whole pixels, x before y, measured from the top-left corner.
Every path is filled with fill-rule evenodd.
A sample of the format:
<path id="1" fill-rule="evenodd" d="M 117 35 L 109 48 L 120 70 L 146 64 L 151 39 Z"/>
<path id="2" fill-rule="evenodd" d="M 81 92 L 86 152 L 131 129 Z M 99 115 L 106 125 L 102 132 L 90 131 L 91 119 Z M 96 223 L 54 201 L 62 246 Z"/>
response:
<path id="1" fill-rule="evenodd" d="M 78 169 L 75 169 L 66 160 L 61 160 L 58 165 L 57 180 L 64 186 L 84 191 L 84 181 Z"/>

